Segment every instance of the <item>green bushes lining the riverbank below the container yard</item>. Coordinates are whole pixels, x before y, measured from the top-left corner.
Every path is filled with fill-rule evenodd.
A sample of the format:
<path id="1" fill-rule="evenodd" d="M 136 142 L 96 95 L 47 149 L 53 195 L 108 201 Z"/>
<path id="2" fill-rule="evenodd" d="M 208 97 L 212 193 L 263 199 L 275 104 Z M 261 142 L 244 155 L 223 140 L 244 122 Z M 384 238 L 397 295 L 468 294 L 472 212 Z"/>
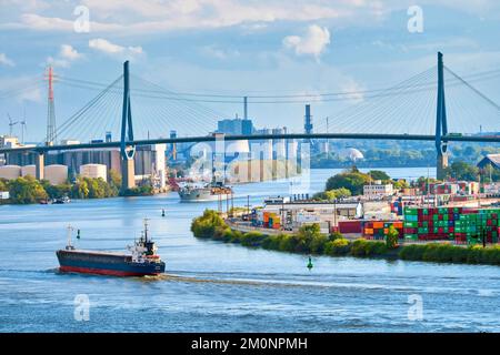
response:
<path id="1" fill-rule="evenodd" d="M 466 247 L 446 242 L 398 245 L 398 236 L 394 234 L 383 242 L 362 237 L 349 241 L 340 233 L 321 234 L 318 224 L 302 226 L 297 234 L 267 235 L 257 231 L 242 233 L 231 230 L 213 210 L 206 210 L 201 216 L 193 219 L 191 232 L 198 239 L 297 254 L 500 265 L 499 245 Z"/>

